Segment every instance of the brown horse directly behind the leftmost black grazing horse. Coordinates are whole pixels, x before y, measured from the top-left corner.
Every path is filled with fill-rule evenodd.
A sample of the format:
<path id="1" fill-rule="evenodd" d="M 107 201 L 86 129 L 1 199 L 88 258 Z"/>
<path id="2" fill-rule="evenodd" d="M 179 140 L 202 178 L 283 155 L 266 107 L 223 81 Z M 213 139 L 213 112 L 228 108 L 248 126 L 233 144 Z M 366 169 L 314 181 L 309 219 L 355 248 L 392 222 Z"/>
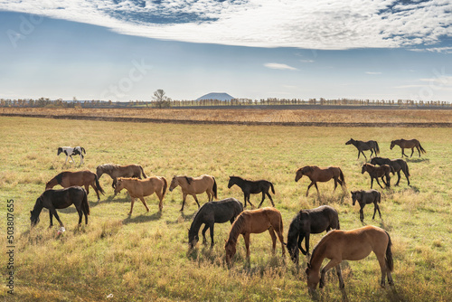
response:
<path id="1" fill-rule="evenodd" d="M 61 172 L 59 175 L 56 175 L 47 184 L 45 184 L 45 190 L 52 189 L 57 184 L 60 184 L 63 188 L 68 188 L 74 185 L 84 186 L 87 194 L 89 194 L 90 185 L 98 195 L 98 202 L 100 201 L 99 192 L 102 194 L 105 193 L 104 189 L 102 189 L 99 184 L 98 176 L 89 170 L 78 172 Z"/>

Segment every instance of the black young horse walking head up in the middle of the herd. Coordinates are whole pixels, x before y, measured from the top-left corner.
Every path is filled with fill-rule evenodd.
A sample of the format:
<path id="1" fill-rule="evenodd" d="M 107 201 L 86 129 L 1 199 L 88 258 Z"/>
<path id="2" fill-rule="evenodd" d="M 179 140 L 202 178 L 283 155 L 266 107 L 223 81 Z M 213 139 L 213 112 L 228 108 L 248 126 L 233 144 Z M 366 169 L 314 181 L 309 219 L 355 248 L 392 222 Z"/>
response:
<path id="1" fill-rule="evenodd" d="M 275 206 L 275 203 L 273 203 L 273 199 L 271 198 L 271 195 L 268 193 L 268 190 L 271 188 L 271 192 L 275 193 L 275 188 L 273 187 L 273 184 L 268 182 L 267 180 L 258 180 L 258 181 L 251 181 L 247 179 L 243 179 L 239 176 L 229 176 L 229 183 L 228 183 L 228 189 L 231 189 L 231 186 L 237 184 L 241 191 L 243 192 L 245 196 L 245 208 L 247 207 L 247 200 L 251 204 L 252 207 L 254 205 L 250 202 L 250 194 L 257 194 L 262 192 L 262 200 L 259 203 L 258 208 L 262 205 L 265 199 L 265 195 L 267 194 L 268 198 L 270 199 L 271 205 Z"/>

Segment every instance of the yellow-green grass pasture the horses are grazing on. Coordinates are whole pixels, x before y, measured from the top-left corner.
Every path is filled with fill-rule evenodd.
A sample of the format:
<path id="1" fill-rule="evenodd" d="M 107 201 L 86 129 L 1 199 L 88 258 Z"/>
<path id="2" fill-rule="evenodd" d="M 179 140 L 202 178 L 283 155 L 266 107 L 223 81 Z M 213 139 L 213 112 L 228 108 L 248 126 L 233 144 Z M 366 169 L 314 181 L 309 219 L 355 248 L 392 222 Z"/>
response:
<path id="1" fill-rule="evenodd" d="M 7 293 L 7 259 L 2 256 L 0 297 L 7 301 L 450 301 L 452 299 L 452 130 L 413 127 L 247 127 L 214 125 L 139 124 L 46 118 L 0 118 L 0 235 L 5 255 L 6 203 L 14 200 L 14 295 Z M 75 208 L 61 210 L 66 231 L 57 236 L 58 223 L 49 229 L 49 214 L 30 230 L 30 211 L 45 183 L 63 170 L 96 170 L 97 165 L 139 164 L 146 175 L 214 175 L 219 198 L 236 197 L 238 187 L 227 188 L 229 175 L 268 179 L 275 184 L 274 201 L 289 223 L 300 209 L 329 204 L 339 212 L 341 228 L 355 229 L 359 206 L 350 191 L 370 188 L 361 174 L 354 139 L 377 140 L 381 156 L 400 157 L 390 150 L 392 139 L 418 138 L 427 154 L 408 159 L 411 186 L 402 175 L 400 186 L 381 190 L 382 220 L 372 221 L 373 205 L 364 208 L 364 222 L 391 234 L 395 286 L 380 288 L 380 268 L 373 254 L 361 261 L 344 261 L 345 289 L 338 288 L 334 270 L 325 288 L 310 297 L 306 288 L 306 259 L 299 267 L 280 245 L 271 254 L 268 232 L 251 235 L 250 263 L 243 239 L 233 265 L 224 262 L 224 240 L 230 223 L 215 225 L 216 245 L 188 250 L 187 229 L 197 211 L 188 197 L 185 211 L 180 188 L 167 192 L 158 212 L 155 195 L 146 197 L 150 212 L 139 201 L 127 217 L 127 193 L 112 198 L 111 179 L 103 175 L 106 190 L 101 202 L 89 193 L 89 224 L 77 228 Z M 58 146 L 84 146 L 85 165 L 64 165 Z M 369 155 L 369 152 L 367 152 Z M 333 182 L 319 184 L 305 197 L 309 181 L 295 183 L 303 165 L 339 165 L 347 192 Z M 395 184 L 397 175 L 391 178 Z M 55 187 L 57 188 L 57 187 Z M 206 202 L 206 194 L 199 196 Z M 260 195 L 251 196 L 258 203 Z M 270 203 L 265 202 L 265 206 Z M 55 220 L 54 220 L 55 222 Z M 201 235 L 201 234 L 200 234 Z M 311 250 L 323 234 L 311 236 Z M 210 236 L 208 236 L 210 243 Z M 324 262 L 325 265 L 326 261 Z"/>

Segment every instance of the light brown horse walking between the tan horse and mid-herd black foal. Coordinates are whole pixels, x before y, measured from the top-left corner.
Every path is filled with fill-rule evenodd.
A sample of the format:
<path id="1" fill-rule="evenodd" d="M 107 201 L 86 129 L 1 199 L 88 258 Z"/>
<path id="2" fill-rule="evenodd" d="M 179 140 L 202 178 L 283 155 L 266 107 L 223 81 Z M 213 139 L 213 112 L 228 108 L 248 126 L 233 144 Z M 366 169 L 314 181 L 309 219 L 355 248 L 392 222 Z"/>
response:
<path id="1" fill-rule="evenodd" d="M 215 181 L 215 177 L 211 175 L 201 175 L 199 177 L 188 177 L 188 176 L 176 176 L 174 175 L 171 180 L 171 184 L 169 187 L 170 192 L 174 190 L 176 186 L 180 185 L 182 189 L 182 208 L 181 211 L 184 211 L 185 200 L 187 195 L 192 195 L 194 201 L 198 203 L 198 198 L 196 194 L 207 193 L 207 198 L 209 202 L 212 202 L 213 197 L 217 199 L 217 182 Z M 200 204 L 198 203 L 198 208 Z"/>

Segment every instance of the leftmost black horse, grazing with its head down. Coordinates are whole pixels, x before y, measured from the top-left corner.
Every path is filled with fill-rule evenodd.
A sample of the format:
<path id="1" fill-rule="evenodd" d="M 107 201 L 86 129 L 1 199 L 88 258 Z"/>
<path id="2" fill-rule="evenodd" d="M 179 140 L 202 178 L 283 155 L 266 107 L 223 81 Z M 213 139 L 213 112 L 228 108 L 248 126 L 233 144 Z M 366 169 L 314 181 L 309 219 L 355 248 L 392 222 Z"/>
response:
<path id="1" fill-rule="evenodd" d="M 49 209 L 49 217 L 51 220 L 51 225 L 49 227 L 53 226 L 53 216 L 60 222 L 60 226 L 64 227 L 56 209 L 65 209 L 71 204 L 74 204 L 77 212 L 79 212 L 79 227 L 83 214 L 85 215 L 85 224 L 88 224 L 89 203 L 87 193 L 85 189 L 80 186 L 71 186 L 61 190 L 46 190 L 38 197 L 38 199 L 36 199 L 33 211 L 30 211 L 31 227 L 33 228 L 38 224 L 39 214 L 41 213 L 42 208 Z"/>

